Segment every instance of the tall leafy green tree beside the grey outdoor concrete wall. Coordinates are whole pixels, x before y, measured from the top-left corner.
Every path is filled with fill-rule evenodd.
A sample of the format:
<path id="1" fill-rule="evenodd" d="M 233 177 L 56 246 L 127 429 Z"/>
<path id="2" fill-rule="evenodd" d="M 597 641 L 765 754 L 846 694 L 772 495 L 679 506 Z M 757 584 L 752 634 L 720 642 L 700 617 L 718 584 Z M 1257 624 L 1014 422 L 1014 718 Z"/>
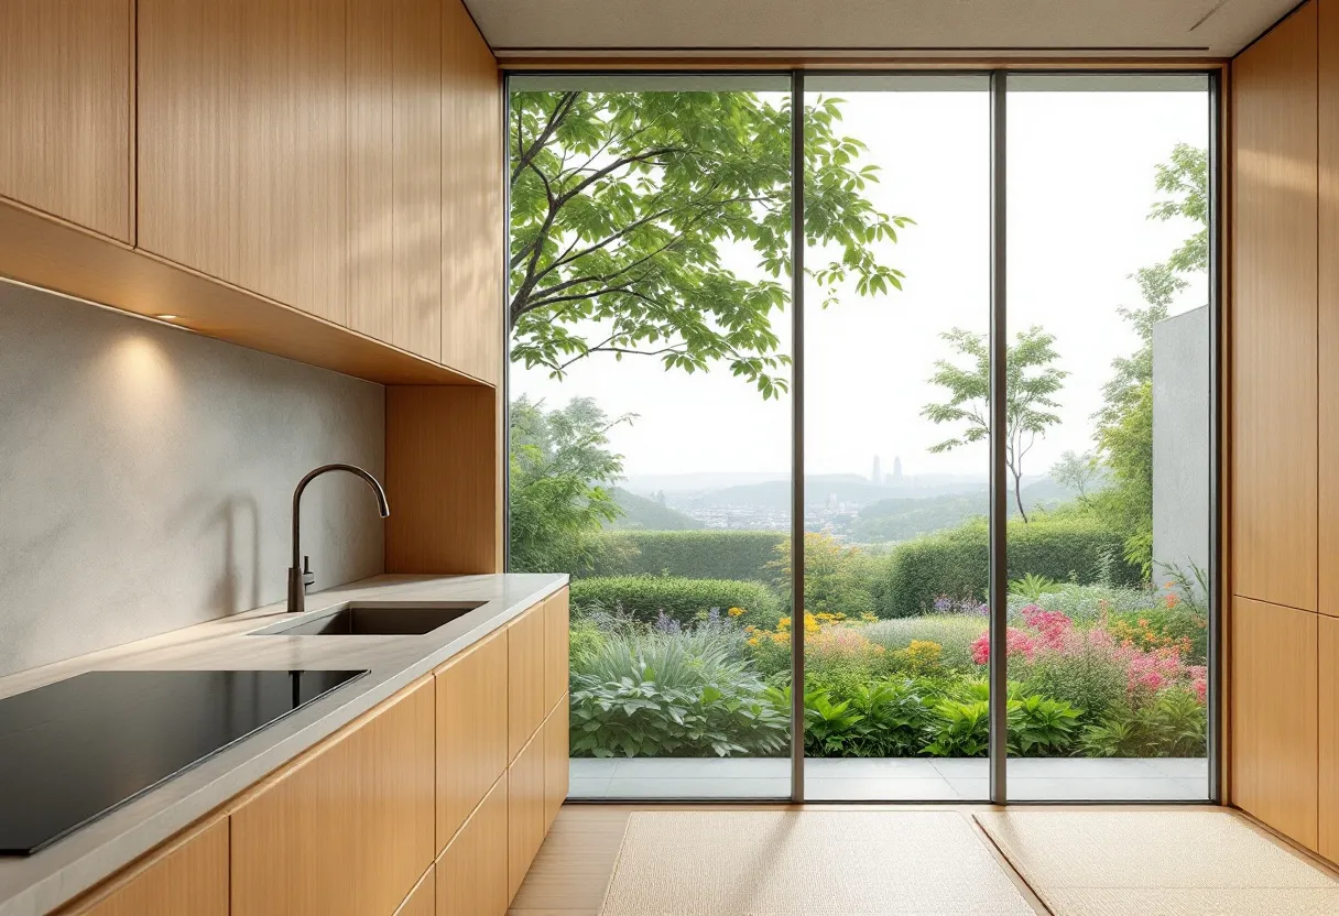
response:
<path id="1" fill-rule="evenodd" d="M 1177 143 L 1168 162 L 1157 166 L 1150 220 L 1184 217 L 1197 224 L 1162 264 L 1134 273 L 1144 305 L 1121 308 L 1139 337 L 1129 356 L 1111 362 L 1111 380 L 1102 388 L 1097 412 L 1097 446 L 1110 470 L 1111 486 L 1093 505 L 1125 536 L 1125 558 L 1153 572 L 1153 327 L 1168 317 L 1172 301 L 1189 283 L 1186 273 L 1209 268 L 1209 157 L 1208 151 Z"/>

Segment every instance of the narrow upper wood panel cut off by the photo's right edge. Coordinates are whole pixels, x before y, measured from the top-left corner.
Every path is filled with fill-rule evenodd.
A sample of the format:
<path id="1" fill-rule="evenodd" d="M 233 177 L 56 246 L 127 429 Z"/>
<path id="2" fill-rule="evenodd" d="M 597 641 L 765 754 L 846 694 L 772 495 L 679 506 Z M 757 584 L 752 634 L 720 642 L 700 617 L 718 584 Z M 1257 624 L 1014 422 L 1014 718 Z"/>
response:
<path id="1" fill-rule="evenodd" d="M 1319 601 L 1339 615 L 1339 0 L 1318 0 Z M 1310 346 L 1299 341 L 1299 348 Z"/>

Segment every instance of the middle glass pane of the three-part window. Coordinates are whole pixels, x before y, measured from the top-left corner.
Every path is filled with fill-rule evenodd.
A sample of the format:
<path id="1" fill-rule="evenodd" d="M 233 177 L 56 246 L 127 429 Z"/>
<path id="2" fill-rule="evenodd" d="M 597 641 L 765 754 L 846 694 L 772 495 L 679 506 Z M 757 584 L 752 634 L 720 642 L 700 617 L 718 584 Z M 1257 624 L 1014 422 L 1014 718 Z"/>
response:
<path id="1" fill-rule="evenodd" d="M 988 794 L 987 90 L 806 80 L 806 799 Z"/>

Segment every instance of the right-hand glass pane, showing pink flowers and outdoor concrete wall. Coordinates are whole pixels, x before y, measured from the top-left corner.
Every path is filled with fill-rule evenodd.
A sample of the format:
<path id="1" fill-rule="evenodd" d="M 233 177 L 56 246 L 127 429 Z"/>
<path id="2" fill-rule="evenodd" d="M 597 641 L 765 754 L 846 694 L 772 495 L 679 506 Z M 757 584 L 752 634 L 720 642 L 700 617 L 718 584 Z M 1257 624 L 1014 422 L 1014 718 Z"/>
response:
<path id="1" fill-rule="evenodd" d="M 1008 797 L 1204 799 L 1206 78 L 1008 87 Z"/>

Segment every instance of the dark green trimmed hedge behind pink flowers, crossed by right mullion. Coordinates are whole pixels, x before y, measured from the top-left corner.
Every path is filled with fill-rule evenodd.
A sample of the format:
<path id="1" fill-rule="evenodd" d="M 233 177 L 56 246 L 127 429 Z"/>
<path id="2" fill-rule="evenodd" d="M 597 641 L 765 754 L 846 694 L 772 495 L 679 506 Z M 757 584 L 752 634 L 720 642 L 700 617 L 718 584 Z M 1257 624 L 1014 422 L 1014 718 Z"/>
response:
<path id="1" fill-rule="evenodd" d="M 1123 558 L 1125 538 L 1090 518 L 1038 517 L 1008 522 L 1008 576 L 1027 573 L 1090 585 L 1106 561 L 1111 585 L 1137 587 L 1144 577 Z M 972 521 L 893 548 L 876 601 L 881 617 L 929 611 L 935 599 L 984 600 L 990 585 L 990 530 Z"/>

